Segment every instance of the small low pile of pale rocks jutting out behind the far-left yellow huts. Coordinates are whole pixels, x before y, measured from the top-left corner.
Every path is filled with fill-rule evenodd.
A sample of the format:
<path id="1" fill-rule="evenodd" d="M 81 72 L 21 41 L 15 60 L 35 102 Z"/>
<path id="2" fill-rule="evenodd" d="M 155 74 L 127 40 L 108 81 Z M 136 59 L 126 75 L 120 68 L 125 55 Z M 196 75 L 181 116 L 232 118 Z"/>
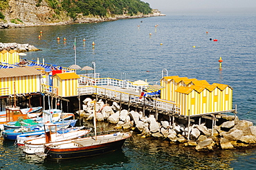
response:
<path id="1" fill-rule="evenodd" d="M 34 45 L 19 44 L 19 43 L 0 43 L 0 52 L 3 50 L 15 50 L 16 52 L 36 52 L 39 51 Z"/>

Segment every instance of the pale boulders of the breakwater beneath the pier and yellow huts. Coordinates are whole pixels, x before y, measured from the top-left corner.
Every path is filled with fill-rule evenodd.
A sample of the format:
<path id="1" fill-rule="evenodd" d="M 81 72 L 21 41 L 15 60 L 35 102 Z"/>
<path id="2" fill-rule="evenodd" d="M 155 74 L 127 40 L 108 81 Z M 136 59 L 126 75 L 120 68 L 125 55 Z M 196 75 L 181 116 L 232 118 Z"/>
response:
<path id="1" fill-rule="evenodd" d="M 83 103 L 83 109 L 77 111 L 77 114 L 86 121 L 93 120 L 92 99 L 86 98 Z M 179 120 L 174 124 L 167 120 L 157 122 L 154 115 L 144 117 L 141 111 L 120 110 L 116 102 L 110 106 L 99 100 L 95 105 L 95 111 L 97 121 L 107 121 L 116 125 L 116 129 L 132 129 L 141 138 L 164 138 L 170 144 L 194 147 L 196 151 L 239 149 L 256 145 L 256 127 L 250 121 L 239 120 L 237 116 L 219 114 L 221 125 L 209 129 L 204 123 L 194 124 L 188 128 L 188 123 Z"/>

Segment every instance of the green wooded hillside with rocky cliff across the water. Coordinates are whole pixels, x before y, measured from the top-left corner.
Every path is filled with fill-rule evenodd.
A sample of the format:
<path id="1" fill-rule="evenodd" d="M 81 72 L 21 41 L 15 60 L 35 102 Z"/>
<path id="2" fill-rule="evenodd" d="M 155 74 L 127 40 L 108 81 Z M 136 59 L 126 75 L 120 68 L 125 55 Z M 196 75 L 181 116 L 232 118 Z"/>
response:
<path id="1" fill-rule="evenodd" d="M 17 6 L 17 4 L 21 4 L 21 6 Z M 45 10 L 46 6 L 49 10 Z M 138 14 L 152 14 L 152 8 L 149 7 L 149 3 L 140 0 L 38 0 L 36 3 L 34 1 L 0 0 L 0 20 L 8 18 L 7 20 L 12 19 L 11 23 L 13 23 L 14 20 L 19 19 L 20 12 L 24 14 L 32 12 L 41 21 L 47 22 L 50 19 L 53 22 L 53 19 L 66 21 L 67 17 L 75 21 L 80 15 L 109 18 L 125 14 L 132 17 Z M 29 21 L 29 16 L 20 20 L 24 21 L 25 19 Z M 35 23 L 35 21 L 30 22 Z"/>

